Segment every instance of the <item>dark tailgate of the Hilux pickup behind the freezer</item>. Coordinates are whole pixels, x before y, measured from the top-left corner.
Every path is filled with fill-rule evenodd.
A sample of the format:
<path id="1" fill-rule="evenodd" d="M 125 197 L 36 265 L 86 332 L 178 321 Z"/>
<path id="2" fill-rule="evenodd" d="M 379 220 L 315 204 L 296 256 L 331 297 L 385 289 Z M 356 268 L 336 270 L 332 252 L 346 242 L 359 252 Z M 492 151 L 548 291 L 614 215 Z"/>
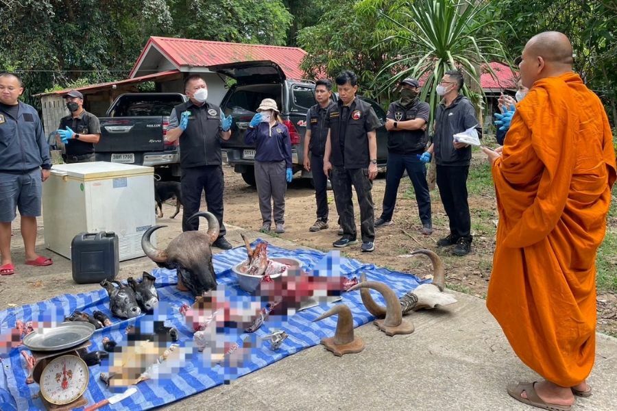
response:
<path id="1" fill-rule="evenodd" d="M 101 117 L 97 153 L 163 151 L 162 116 Z"/>

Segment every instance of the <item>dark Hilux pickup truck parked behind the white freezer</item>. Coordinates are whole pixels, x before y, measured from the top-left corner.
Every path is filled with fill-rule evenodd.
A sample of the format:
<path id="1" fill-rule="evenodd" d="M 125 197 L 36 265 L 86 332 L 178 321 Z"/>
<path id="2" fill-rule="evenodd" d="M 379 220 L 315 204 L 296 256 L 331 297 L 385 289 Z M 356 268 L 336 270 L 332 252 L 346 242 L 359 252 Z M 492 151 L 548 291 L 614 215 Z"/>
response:
<path id="1" fill-rule="evenodd" d="M 162 179 L 180 177 L 178 142 L 165 142 L 169 114 L 186 96 L 172 92 L 129 93 L 117 97 L 99 117 L 96 160 L 152 166 Z"/>

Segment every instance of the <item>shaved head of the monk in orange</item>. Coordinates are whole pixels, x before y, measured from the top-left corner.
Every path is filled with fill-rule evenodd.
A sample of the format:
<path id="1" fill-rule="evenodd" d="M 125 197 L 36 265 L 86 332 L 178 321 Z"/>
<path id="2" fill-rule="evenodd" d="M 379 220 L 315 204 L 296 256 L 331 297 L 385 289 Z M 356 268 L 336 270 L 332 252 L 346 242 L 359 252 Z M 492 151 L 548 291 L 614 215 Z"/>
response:
<path id="1" fill-rule="evenodd" d="M 522 85 L 531 88 L 545 77 L 557 77 L 572 71 L 572 44 L 559 32 L 544 32 L 533 36 L 525 45 L 520 63 Z"/>

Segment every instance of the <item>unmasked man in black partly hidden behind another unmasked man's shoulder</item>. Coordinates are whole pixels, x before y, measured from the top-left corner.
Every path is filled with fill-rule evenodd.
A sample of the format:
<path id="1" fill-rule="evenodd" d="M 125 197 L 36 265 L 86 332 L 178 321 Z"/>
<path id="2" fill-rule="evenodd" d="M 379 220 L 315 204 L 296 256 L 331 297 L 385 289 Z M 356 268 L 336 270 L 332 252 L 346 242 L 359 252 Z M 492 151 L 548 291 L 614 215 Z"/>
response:
<path id="1" fill-rule="evenodd" d="M 315 83 L 315 99 L 317 104 L 306 113 L 306 134 L 304 135 L 304 169 L 313 170 L 313 185 L 317 201 L 317 221 L 309 228 L 311 232 L 328 228 L 328 176 L 322 173 L 324 169 L 324 151 L 328 127 L 326 114 L 336 103 L 332 97 L 332 82 L 320 79 Z"/>

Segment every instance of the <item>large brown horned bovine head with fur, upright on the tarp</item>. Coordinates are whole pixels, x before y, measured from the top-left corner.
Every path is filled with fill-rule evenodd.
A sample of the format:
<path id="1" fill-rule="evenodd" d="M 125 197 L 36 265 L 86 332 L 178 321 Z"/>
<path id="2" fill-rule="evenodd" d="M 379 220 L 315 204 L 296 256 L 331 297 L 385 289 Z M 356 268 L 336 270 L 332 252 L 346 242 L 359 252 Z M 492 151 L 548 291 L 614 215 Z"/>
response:
<path id="1" fill-rule="evenodd" d="M 141 248 L 150 260 L 167 269 L 176 269 L 182 284 L 193 295 L 203 295 L 209 290 L 216 290 L 217 278 L 212 264 L 210 246 L 219 236 L 219 222 L 210 212 L 193 214 L 189 221 L 204 217 L 208 221 L 208 230 L 183 232 L 169 242 L 164 250 L 158 249 L 150 242 L 150 236 L 165 225 L 154 225 L 146 230 L 141 238 Z"/>

